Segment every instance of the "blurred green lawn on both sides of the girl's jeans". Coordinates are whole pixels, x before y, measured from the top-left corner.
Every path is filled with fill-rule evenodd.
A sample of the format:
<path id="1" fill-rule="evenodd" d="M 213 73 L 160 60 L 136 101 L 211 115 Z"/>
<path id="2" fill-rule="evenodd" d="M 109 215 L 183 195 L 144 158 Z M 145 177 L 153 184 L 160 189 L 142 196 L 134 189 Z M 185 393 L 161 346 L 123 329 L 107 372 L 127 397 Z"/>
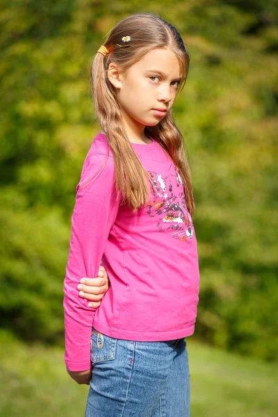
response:
<path id="1" fill-rule="evenodd" d="M 277 416 L 277 363 L 223 352 L 187 338 L 192 417 Z M 83 416 L 88 386 L 65 371 L 63 350 L 25 345 L 0 332 L 0 416 Z M 177 416 L 179 417 L 179 416 Z"/>

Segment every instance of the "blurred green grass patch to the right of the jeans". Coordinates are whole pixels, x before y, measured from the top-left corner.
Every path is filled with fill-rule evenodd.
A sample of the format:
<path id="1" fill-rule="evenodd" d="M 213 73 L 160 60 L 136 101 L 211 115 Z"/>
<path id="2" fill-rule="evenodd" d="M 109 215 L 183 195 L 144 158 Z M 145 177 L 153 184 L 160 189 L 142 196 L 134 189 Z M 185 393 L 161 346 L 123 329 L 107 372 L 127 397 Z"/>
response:
<path id="1" fill-rule="evenodd" d="M 277 416 L 277 363 L 187 340 L 193 417 Z"/>

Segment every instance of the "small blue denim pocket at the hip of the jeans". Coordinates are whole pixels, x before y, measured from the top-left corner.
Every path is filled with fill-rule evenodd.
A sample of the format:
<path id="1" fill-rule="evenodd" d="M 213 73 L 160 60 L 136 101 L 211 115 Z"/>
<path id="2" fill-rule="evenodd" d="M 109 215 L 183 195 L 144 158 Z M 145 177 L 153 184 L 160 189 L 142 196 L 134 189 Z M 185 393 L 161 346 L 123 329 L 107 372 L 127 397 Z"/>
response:
<path id="1" fill-rule="evenodd" d="M 107 336 L 92 327 L 91 361 L 92 364 L 115 359 L 117 339 Z"/>

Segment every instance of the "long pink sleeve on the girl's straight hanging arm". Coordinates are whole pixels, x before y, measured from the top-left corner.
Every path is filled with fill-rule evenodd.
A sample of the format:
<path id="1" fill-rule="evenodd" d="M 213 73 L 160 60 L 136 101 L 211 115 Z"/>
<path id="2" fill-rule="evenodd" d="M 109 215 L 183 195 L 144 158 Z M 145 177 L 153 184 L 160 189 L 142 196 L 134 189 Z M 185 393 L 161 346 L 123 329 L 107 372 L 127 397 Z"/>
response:
<path id="1" fill-rule="evenodd" d="M 79 296 L 76 287 L 82 277 L 97 277 L 106 242 L 120 207 L 113 157 L 108 156 L 107 162 L 106 158 L 103 154 L 94 154 L 90 158 L 87 156 L 81 181 L 76 186 L 70 253 L 63 288 L 65 364 L 68 370 L 73 371 L 91 368 L 90 338 L 96 311 L 88 307 L 88 300 Z"/>

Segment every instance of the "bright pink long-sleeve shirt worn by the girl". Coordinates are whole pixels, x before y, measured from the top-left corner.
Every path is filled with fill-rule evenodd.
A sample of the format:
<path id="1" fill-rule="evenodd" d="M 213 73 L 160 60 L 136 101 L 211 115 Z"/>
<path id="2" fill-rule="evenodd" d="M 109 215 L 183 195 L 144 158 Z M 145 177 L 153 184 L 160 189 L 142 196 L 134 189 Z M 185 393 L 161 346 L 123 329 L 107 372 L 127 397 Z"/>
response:
<path id="1" fill-rule="evenodd" d="M 90 369 L 92 325 L 131 341 L 167 341 L 193 334 L 199 302 L 199 265 L 193 221 L 177 168 L 158 142 L 132 143 L 150 174 L 146 206 L 120 206 L 113 154 L 99 132 L 76 186 L 70 254 L 64 281 L 65 363 Z M 106 152 L 109 152 L 107 163 Z M 111 285 L 98 309 L 76 286 L 104 265 Z"/>

